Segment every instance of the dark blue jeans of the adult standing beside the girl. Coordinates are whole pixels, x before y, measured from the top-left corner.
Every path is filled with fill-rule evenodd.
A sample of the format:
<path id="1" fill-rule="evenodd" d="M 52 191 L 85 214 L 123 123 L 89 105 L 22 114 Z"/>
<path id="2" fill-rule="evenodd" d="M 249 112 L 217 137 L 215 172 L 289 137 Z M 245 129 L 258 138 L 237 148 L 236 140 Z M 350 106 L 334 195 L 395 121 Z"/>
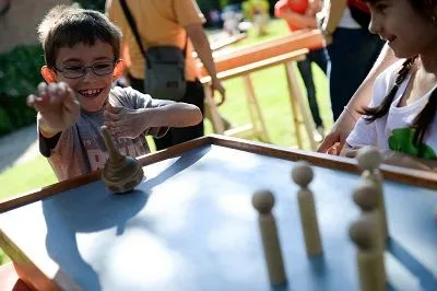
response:
<path id="1" fill-rule="evenodd" d="M 367 28 L 338 28 L 332 35 L 328 78 L 334 120 L 370 71 L 382 46 L 383 42 Z"/>

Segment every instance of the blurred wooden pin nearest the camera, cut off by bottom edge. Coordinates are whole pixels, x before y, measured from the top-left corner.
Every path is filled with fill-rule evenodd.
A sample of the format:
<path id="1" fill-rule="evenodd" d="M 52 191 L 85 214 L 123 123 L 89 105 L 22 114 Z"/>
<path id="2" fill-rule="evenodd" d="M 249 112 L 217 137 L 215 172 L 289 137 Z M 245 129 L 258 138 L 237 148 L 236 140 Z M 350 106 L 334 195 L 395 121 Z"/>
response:
<path id="1" fill-rule="evenodd" d="M 357 247 L 356 264 L 361 291 L 385 291 L 386 271 L 383 253 L 375 241 L 375 223 L 369 217 L 361 217 L 350 228 L 350 237 Z M 382 268 L 382 269 L 381 269 Z"/>

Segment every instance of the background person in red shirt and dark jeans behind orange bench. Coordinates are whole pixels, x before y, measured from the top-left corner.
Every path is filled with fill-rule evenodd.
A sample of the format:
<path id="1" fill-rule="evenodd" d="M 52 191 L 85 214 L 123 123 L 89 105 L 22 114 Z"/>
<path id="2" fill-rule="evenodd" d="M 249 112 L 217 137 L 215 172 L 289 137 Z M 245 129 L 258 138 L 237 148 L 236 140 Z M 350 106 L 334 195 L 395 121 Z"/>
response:
<path id="1" fill-rule="evenodd" d="M 320 0 L 280 0 L 274 5 L 274 14 L 287 22 L 291 32 L 298 30 L 317 28 L 316 13 L 321 9 Z M 316 86 L 312 79 L 311 63 L 316 62 L 319 68 L 327 73 L 329 58 L 324 48 L 312 49 L 305 60 L 297 62 L 302 79 L 307 89 L 309 108 L 318 133 L 317 140 L 323 139 L 323 123 L 320 117 L 319 107 L 316 98 Z"/>

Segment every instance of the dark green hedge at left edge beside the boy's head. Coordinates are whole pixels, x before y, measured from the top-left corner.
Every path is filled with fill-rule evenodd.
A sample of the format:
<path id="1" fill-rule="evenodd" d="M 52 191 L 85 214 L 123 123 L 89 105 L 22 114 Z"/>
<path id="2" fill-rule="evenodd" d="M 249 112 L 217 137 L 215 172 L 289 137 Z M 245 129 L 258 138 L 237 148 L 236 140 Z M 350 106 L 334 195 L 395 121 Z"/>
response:
<path id="1" fill-rule="evenodd" d="M 0 54 L 0 136 L 35 123 L 36 113 L 26 105 L 28 94 L 43 81 L 39 45 L 17 46 Z"/>

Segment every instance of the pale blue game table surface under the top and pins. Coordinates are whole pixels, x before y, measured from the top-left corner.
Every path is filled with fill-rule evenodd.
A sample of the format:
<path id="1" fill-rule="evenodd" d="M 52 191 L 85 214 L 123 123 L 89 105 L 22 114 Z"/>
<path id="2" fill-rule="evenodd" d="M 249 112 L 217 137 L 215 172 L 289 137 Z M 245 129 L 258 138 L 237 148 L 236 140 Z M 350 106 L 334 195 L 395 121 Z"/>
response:
<path id="1" fill-rule="evenodd" d="M 251 196 L 269 189 L 288 284 L 358 290 L 347 229 L 359 176 L 312 166 L 323 256 L 308 258 L 294 162 L 206 146 L 144 167 L 128 195 L 101 181 L 0 216 L 0 230 L 38 266 L 52 260 L 84 290 L 271 290 Z M 388 290 L 437 290 L 435 190 L 385 182 Z"/>

